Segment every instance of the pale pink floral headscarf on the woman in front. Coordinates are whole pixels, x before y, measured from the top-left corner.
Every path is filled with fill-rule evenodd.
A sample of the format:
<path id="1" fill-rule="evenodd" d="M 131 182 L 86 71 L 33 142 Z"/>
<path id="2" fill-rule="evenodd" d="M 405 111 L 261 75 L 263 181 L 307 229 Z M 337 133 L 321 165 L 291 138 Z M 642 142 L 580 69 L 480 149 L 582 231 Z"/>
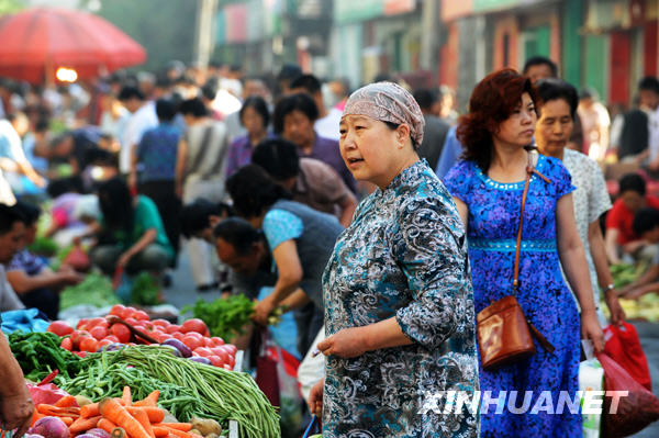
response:
<path id="1" fill-rule="evenodd" d="M 367 115 L 381 122 L 405 123 L 414 147 L 423 141 L 425 121 L 416 100 L 403 87 L 393 82 L 376 82 L 350 94 L 343 116 Z"/>

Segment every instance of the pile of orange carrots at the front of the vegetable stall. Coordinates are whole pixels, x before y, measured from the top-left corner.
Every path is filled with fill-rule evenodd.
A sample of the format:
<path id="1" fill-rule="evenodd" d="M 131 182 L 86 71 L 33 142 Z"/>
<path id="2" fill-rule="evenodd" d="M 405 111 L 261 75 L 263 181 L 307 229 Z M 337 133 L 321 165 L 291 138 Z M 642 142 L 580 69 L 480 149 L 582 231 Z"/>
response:
<path id="1" fill-rule="evenodd" d="M 163 423 L 165 411 L 157 406 L 159 395 L 159 391 L 154 391 L 133 403 L 131 388 L 124 386 L 121 398 L 105 398 L 82 407 L 76 406 L 75 397 L 68 395 L 54 405 L 37 405 L 32 424 L 41 417 L 55 416 L 69 427 L 71 436 L 98 427 L 126 438 L 199 438 L 189 434 L 190 423 Z"/>

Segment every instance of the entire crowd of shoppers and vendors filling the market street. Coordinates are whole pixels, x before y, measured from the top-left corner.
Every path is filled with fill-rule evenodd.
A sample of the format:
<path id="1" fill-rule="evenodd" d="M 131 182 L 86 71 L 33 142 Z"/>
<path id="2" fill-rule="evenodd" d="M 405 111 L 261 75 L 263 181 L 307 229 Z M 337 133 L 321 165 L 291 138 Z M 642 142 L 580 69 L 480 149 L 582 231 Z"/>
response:
<path id="1" fill-rule="evenodd" d="M 576 393 L 581 339 L 602 350 L 618 296 L 659 290 L 659 81 L 610 111 L 558 76 L 541 57 L 491 72 L 461 115 L 447 87 L 350 90 L 293 65 L 3 80 L 0 311 L 55 319 L 82 280 L 29 249 L 45 223 L 108 276 L 168 288 L 189 257 L 198 291 L 258 300 L 255 326 L 286 306 L 279 340 L 323 436 L 579 437 L 580 415 L 422 414 L 420 393 Z M 616 161 L 619 183 L 602 172 Z M 639 260 L 616 290 L 610 265 Z M 477 314 L 511 294 L 550 348 L 491 368 Z M 0 375 L 20 375 L 0 338 Z M 12 382 L 0 426 L 21 428 Z"/>

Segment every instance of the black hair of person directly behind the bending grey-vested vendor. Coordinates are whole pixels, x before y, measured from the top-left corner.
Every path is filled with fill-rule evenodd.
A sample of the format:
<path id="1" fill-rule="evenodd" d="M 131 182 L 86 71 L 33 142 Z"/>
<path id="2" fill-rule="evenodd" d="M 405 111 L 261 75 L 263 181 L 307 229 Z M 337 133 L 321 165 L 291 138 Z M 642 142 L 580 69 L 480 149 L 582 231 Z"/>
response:
<path id="1" fill-rule="evenodd" d="M 263 167 L 277 181 L 300 175 L 298 146 L 283 138 L 271 138 L 259 143 L 252 153 L 252 162 Z"/>

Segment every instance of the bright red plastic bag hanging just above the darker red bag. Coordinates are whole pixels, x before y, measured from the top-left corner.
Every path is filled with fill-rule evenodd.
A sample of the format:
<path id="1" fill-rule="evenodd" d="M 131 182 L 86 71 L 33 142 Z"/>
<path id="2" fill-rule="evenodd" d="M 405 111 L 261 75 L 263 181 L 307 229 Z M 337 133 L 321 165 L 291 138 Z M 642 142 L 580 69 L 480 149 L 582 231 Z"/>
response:
<path id="1" fill-rule="evenodd" d="M 643 352 L 636 327 L 627 323 L 623 323 L 619 327 L 608 325 L 604 327 L 604 339 L 606 340 L 604 352 L 651 392 L 652 381 L 648 360 Z"/>

